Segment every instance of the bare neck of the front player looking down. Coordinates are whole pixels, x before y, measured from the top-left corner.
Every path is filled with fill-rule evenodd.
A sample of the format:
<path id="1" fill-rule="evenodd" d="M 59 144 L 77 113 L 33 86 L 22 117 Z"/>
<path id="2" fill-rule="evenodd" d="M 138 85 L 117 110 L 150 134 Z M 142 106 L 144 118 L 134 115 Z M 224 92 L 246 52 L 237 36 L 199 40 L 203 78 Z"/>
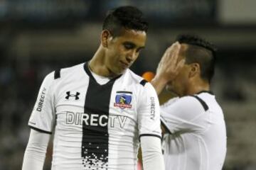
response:
<path id="1" fill-rule="evenodd" d="M 105 65 L 105 52 L 101 47 L 95 52 L 95 55 L 92 57 L 88 64 L 90 70 L 95 74 L 102 77 L 115 77 L 115 75 L 107 69 Z"/>

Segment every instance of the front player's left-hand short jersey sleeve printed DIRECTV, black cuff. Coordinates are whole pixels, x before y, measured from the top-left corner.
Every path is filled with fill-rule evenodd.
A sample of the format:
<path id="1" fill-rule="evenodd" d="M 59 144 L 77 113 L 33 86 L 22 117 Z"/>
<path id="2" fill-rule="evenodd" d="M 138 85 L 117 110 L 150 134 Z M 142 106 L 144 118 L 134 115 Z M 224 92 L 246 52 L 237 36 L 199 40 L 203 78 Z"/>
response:
<path id="1" fill-rule="evenodd" d="M 41 84 L 35 106 L 28 121 L 34 130 L 51 133 L 53 130 L 55 111 L 53 106 L 53 72 L 48 74 Z"/>

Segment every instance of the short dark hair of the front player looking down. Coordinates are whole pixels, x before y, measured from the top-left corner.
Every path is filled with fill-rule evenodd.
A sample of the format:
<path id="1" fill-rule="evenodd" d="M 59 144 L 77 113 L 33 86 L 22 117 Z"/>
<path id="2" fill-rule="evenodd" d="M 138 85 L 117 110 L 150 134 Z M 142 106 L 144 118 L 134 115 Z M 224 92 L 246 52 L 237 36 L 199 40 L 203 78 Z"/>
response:
<path id="1" fill-rule="evenodd" d="M 120 6 L 107 12 L 102 30 L 109 30 L 113 37 L 119 35 L 121 28 L 147 31 L 149 24 L 142 11 L 134 6 Z"/>

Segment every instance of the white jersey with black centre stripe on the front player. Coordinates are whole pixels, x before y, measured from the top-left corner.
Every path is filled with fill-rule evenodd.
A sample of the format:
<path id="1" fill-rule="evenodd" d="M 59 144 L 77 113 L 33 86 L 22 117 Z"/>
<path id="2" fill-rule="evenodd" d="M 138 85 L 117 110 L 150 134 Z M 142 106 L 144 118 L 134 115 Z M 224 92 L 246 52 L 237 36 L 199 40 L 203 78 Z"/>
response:
<path id="1" fill-rule="evenodd" d="M 100 85 L 87 63 L 48 74 L 28 125 L 54 132 L 52 170 L 137 169 L 139 137 L 161 138 L 153 86 L 129 69 Z"/>

